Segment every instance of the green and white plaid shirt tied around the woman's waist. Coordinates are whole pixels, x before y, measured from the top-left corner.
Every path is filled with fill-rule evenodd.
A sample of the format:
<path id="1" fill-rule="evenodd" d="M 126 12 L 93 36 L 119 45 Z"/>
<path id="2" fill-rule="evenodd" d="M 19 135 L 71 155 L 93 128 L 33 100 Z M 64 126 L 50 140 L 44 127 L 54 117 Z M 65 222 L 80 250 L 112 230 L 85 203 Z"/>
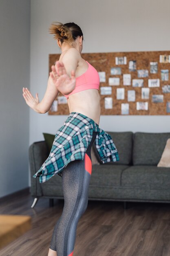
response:
<path id="1" fill-rule="evenodd" d="M 93 119 L 79 112 L 71 112 L 63 126 L 57 130 L 49 157 L 33 177 L 40 177 L 40 183 L 45 182 L 56 173 L 60 175 L 69 162 L 84 159 L 93 131 L 97 132 L 95 145 L 102 162 L 119 161 L 111 136 L 100 129 Z"/>

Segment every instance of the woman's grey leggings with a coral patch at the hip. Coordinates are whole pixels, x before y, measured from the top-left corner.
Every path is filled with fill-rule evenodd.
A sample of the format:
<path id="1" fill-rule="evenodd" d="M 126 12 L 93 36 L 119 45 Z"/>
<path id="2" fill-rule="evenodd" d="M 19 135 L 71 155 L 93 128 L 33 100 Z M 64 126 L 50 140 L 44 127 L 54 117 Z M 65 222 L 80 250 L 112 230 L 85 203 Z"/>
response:
<path id="1" fill-rule="evenodd" d="M 88 205 L 92 171 L 91 146 L 96 135 L 97 132 L 93 131 L 84 159 L 74 160 L 62 170 L 64 208 L 55 224 L 50 243 L 50 249 L 57 251 L 57 256 L 73 256 L 77 224 Z"/>

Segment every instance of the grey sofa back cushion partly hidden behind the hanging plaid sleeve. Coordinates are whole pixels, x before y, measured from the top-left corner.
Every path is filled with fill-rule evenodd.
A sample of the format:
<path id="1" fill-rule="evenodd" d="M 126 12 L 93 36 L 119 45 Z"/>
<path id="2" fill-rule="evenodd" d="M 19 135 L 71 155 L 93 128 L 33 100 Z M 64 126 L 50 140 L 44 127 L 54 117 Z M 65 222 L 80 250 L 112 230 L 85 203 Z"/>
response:
<path id="1" fill-rule="evenodd" d="M 131 164 L 132 163 L 132 138 L 133 132 L 107 132 L 113 139 L 117 151 L 119 153 L 119 161 L 117 162 L 108 162 L 107 164 L 121 165 L 121 164 Z M 93 144 L 93 149 L 95 155 L 100 164 L 103 164 L 95 146 Z"/>

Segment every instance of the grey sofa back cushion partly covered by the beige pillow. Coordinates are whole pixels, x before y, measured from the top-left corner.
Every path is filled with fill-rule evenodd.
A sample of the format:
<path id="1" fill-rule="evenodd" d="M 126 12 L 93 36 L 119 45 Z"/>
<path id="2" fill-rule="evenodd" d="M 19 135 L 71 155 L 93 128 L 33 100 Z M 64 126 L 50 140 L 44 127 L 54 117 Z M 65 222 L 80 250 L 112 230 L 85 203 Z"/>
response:
<path id="1" fill-rule="evenodd" d="M 156 165 L 166 146 L 170 132 L 136 132 L 133 136 L 133 165 Z"/>

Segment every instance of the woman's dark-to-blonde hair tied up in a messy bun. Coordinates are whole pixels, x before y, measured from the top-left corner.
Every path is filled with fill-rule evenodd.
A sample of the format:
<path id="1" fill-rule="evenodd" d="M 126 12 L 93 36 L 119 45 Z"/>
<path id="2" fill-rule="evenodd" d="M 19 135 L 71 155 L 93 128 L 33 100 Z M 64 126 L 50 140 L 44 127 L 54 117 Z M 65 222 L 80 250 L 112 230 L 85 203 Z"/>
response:
<path id="1" fill-rule="evenodd" d="M 49 33 L 54 34 L 54 39 L 72 44 L 78 36 L 83 36 L 81 28 L 74 22 L 63 24 L 62 22 L 53 22 L 49 27 Z"/>

